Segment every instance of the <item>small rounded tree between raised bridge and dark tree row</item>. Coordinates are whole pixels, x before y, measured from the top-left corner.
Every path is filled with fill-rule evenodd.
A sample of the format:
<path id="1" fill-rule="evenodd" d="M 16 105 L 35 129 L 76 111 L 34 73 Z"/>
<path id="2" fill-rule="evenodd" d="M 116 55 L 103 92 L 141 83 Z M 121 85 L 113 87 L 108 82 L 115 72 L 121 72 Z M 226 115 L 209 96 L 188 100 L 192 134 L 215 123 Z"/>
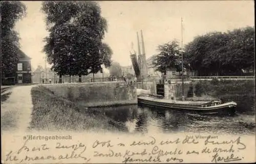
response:
<path id="1" fill-rule="evenodd" d="M 159 54 L 153 57 L 152 65 L 157 71 L 164 72 L 166 69 L 177 68 L 181 71 L 181 48 L 178 41 L 172 41 L 158 46 Z"/>

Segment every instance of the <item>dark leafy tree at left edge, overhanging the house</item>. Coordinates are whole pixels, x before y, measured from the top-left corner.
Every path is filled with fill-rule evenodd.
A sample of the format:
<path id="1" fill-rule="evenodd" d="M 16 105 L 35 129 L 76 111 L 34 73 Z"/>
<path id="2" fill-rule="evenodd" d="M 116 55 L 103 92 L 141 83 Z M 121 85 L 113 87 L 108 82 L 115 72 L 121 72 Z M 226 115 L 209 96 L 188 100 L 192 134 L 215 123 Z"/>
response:
<path id="1" fill-rule="evenodd" d="M 18 62 L 18 33 L 15 23 L 26 16 L 26 6 L 19 1 L 1 2 L 1 75 L 13 76 Z"/>

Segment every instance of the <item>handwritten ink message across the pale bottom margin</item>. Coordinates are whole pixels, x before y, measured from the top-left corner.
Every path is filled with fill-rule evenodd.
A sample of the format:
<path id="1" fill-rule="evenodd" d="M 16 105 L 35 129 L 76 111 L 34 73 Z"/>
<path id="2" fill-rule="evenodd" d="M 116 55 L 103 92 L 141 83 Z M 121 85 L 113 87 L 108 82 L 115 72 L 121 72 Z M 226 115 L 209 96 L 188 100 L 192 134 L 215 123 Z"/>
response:
<path id="1" fill-rule="evenodd" d="M 49 142 L 26 140 L 22 146 L 5 152 L 5 162 L 182 163 L 205 156 L 208 160 L 206 162 L 218 163 L 241 161 L 244 156 L 240 152 L 246 150 L 246 144 L 240 136 L 230 140 L 221 140 L 209 135 L 205 138 L 184 136 L 167 140 L 145 136 L 143 140 L 126 141 L 112 138 L 90 142 Z"/>

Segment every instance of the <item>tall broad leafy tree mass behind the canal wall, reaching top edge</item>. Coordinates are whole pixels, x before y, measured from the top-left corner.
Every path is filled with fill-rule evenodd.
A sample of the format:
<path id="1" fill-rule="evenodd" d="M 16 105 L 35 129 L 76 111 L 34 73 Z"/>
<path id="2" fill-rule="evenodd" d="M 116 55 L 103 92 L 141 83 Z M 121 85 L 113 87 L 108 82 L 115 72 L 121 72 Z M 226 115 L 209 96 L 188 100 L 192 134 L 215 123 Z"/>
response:
<path id="1" fill-rule="evenodd" d="M 110 66 L 112 50 L 102 43 L 107 24 L 96 2 L 44 2 L 42 11 L 50 32 L 44 51 L 60 76 L 81 77 Z"/>

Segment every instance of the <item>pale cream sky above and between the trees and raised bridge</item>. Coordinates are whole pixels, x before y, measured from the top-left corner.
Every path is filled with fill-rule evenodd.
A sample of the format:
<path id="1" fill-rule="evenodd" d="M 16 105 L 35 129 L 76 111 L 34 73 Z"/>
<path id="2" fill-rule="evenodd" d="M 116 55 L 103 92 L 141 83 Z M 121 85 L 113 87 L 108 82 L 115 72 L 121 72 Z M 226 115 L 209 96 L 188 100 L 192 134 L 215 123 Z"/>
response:
<path id="1" fill-rule="evenodd" d="M 42 52 L 46 30 L 40 1 L 24 1 L 27 16 L 16 23 L 20 46 L 35 69 L 44 66 Z M 112 60 L 131 65 L 130 50 L 138 51 L 136 32 L 143 31 L 146 58 L 158 53 L 157 46 L 172 40 L 183 42 L 208 32 L 226 32 L 254 26 L 253 1 L 99 1 L 101 14 L 108 21 L 104 41 L 113 50 Z M 48 64 L 47 64 L 48 65 Z M 49 66 L 49 65 L 48 65 Z"/>

